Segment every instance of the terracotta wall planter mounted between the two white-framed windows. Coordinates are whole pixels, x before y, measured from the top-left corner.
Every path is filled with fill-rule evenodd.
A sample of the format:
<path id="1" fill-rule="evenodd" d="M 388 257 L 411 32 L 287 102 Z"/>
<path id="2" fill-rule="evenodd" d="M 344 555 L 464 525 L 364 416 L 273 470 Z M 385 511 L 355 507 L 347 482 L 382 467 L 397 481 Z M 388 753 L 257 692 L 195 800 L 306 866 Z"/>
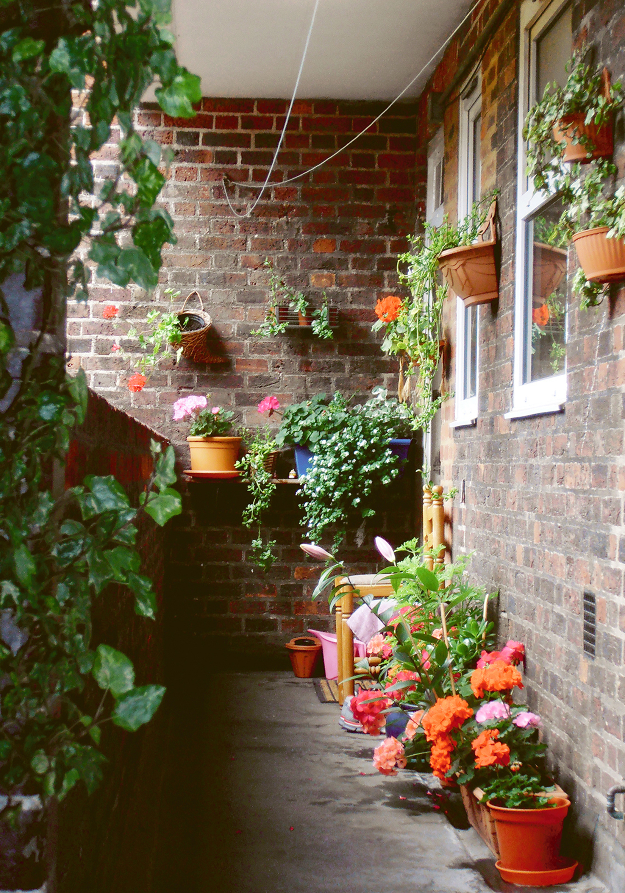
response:
<path id="1" fill-rule="evenodd" d="M 462 297 L 465 306 L 490 304 L 499 297 L 495 263 L 496 201 L 490 205 L 486 221 L 479 230 L 482 238 L 489 230 L 489 238 L 474 245 L 449 248 L 438 258 L 438 265 L 449 288 Z"/>

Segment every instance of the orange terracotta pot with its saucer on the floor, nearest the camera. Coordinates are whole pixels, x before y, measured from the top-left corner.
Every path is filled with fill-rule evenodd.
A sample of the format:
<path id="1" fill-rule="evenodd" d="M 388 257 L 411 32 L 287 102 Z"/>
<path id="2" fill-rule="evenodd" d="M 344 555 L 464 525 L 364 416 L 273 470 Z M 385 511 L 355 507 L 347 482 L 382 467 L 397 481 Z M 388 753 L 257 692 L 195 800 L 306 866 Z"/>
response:
<path id="1" fill-rule="evenodd" d="M 546 887 L 571 880 L 577 863 L 560 857 L 562 822 L 571 801 L 550 797 L 544 809 L 507 809 L 488 803 L 495 819 L 501 857 L 496 867 L 504 880 Z"/>

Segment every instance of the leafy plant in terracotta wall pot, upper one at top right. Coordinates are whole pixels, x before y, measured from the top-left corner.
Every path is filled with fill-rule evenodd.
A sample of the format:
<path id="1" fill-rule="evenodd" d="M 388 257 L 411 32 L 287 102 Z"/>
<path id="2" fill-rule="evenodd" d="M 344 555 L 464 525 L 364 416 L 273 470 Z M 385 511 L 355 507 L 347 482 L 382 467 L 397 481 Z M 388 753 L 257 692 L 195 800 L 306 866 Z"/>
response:
<path id="1" fill-rule="evenodd" d="M 528 176 L 537 190 L 562 173 L 562 163 L 589 163 L 612 155 L 612 119 L 621 107 L 619 82 L 610 88 L 608 72 L 587 63 L 584 48 L 566 65 L 564 87 L 547 84 L 525 120 Z"/>

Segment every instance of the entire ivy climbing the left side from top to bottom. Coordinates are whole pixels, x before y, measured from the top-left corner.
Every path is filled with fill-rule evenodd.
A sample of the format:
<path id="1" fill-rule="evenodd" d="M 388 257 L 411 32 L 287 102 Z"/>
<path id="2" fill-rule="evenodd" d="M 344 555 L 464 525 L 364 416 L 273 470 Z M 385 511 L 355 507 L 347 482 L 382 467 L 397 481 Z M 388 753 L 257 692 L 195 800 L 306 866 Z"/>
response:
<path id="1" fill-rule="evenodd" d="M 90 475 L 63 494 L 52 481 L 87 405 L 84 375 L 68 379 L 64 369 L 68 297 L 87 298 L 93 266 L 115 285 L 154 288 L 162 246 L 175 242 L 169 214 L 154 206 L 171 155 L 133 124 L 154 82 L 171 116 L 191 117 L 201 98 L 199 78 L 177 63 L 169 21 L 167 2 L 144 0 L 4 7 L 0 285 L 21 275 L 33 302 L 41 295 L 42 321 L 27 351 L 14 348 L 0 295 L 0 608 L 11 628 L 0 646 L 0 791 L 38 793 L 44 806 L 79 780 L 95 789 L 103 722 L 136 730 L 163 693 L 137 686 L 129 658 L 92 640 L 91 613 L 117 584 L 137 613 L 154 616 L 136 522 L 146 514 L 163 524 L 180 511 L 171 449 L 153 445 L 139 507 L 112 476 Z M 116 172 L 96 187 L 91 156 L 113 123 Z M 103 692 L 91 712 L 87 682 Z"/>

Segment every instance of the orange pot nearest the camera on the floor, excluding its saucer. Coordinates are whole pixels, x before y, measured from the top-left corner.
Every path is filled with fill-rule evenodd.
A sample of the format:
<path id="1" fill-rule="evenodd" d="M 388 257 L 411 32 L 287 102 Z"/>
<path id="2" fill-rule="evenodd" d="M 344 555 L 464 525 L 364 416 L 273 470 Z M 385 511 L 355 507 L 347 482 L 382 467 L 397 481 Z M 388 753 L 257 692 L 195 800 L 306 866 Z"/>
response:
<path id="1" fill-rule="evenodd" d="M 562 822 L 569 812 L 567 797 L 550 797 L 544 809 L 506 809 L 488 803 L 496 822 L 504 869 L 546 872 L 559 868 Z"/>

